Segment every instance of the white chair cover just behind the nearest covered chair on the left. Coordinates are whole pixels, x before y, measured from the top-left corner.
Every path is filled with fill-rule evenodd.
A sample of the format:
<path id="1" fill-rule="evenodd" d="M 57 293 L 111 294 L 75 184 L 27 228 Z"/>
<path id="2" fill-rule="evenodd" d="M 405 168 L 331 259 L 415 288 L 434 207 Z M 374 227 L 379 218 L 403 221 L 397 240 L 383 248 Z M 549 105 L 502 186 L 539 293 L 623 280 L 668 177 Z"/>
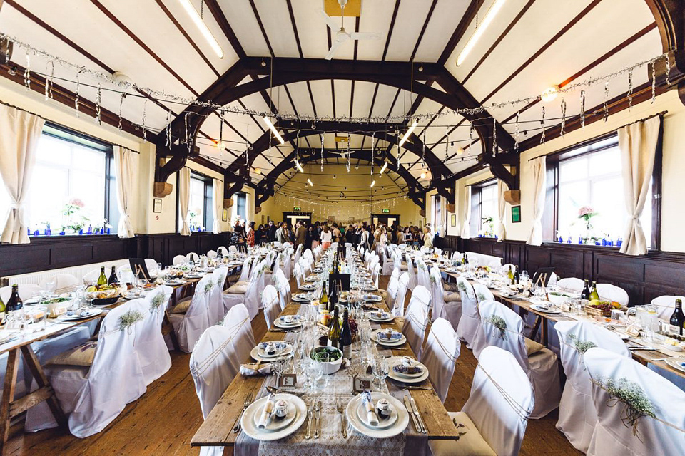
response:
<path id="1" fill-rule="evenodd" d="M 146 385 L 160 378 L 171 368 L 171 356 L 162 335 L 162 322 L 172 293 L 171 286 L 163 285 L 145 296 L 148 308 L 145 320 L 138 323 L 140 331 L 136 332 L 134 346 Z"/>

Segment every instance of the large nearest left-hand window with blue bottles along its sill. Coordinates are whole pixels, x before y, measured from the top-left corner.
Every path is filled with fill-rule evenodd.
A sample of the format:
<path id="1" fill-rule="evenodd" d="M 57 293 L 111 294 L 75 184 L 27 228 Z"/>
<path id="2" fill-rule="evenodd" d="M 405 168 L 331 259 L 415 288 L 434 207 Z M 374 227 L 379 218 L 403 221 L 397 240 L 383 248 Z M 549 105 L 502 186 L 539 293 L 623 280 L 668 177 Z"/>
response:
<path id="1" fill-rule="evenodd" d="M 81 229 L 86 233 L 89 227 L 95 232 L 105 224 L 116 227 L 109 219 L 112 161 L 111 146 L 46 124 L 28 192 L 31 234 L 44 235 L 48 227 L 51 234 L 78 234 Z M 9 195 L 0 193 L 0 212 L 5 214 Z"/>

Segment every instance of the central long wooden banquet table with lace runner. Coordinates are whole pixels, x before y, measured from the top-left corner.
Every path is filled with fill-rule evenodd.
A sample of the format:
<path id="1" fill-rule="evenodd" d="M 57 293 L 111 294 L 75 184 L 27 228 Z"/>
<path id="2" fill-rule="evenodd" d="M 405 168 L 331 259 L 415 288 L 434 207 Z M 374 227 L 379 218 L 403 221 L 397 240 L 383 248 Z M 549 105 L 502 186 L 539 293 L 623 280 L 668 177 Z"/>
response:
<path id="1" fill-rule="evenodd" d="M 380 302 L 377 306 L 387 310 L 385 302 Z M 288 304 L 281 315 L 298 314 L 302 307 L 299 304 Z M 372 324 L 372 328 L 394 328 L 396 331 L 400 331 L 397 318 L 392 323 Z M 291 335 L 293 335 L 292 332 L 267 331 L 262 338 L 262 342 L 281 341 Z M 378 351 L 383 356 L 410 356 L 416 358 L 408 343 L 392 350 L 386 350 L 379 346 Z M 349 385 L 349 388 L 340 389 L 340 376 L 347 378 L 348 383 L 345 383 L 345 385 Z M 316 445 L 327 445 L 327 450 L 330 450 L 330 454 L 338 454 L 338 452 L 340 454 L 361 454 L 364 452 L 375 454 L 382 447 L 388 452 L 403 450 L 406 455 L 422 455 L 427 452 L 428 440 L 455 440 L 458 437 L 457 428 L 452 424 L 445 406 L 442 405 L 440 398 L 438 398 L 428 380 L 422 383 L 422 386 L 430 387 L 430 390 L 403 391 L 390 378 L 386 381 L 388 392 L 395 398 L 400 399 L 400 402 L 402 402 L 402 396 L 404 395 L 411 395 L 415 399 L 427 427 L 427 434 L 423 435 L 416 432 L 412 423 L 409 423 L 404 432 L 400 434 L 399 447 L 392 447 L 392 442 L 386 442 L 386 440 L 390 439 L 379 440 L 362 436 L 349 425 L 347 427 L 347 437 L 342 437 L 340 434 L 340 414 L 335 410 L 335 398 L 333 396 L 342 395 L 345 396 L 345 400 L 352 398 L 352 378 L 345 373 L 343 368 L 338 373 L 330 375 L 330 383 L 333 383 L 334 386 L 329 391 L 303 396 L 308 404 L 313 400 L 323 400 L 324 402 L 322 421 L 323 423 L 328 423 L 328 425 L 324 424 L 323 436 L 318 440 L 305 439 L 306 420 L 293 435 L 277 442 L 268 442 L 268 445 L 263 445 L 267 442 L 261 442 L 260 444 L 256 440 L 243 435 L 243 432 L 232 432 L 233 423 L 240 415 L 241 410 L 243 410 L 245 395 L 258 392 L 254 398 L 256 400 L 267 394 L 265 392 L 265 385 L 273 385 L 273 376 L 245 376 L 239 374 L 236 375 L 228 388 L 226 388 L 218 403 L 211 410 L 207 418 L 205 418 L 204 423 L 193 435 L 191 445 L 194 447 L 235 446 L 235 454 L 246 455 L 256 454 L 257 452 L 260 454 L 277 454 L 275 448 L 270 447 L 273 444 L 281 451 L 278 454 L 284 454 L 284 451 L 289 451 L 289 454 L 308 454 L 311 451 L 317 451 L 313 450 Z M 397 442 L 395 443 L 397 444 Z M 258 451 L 257 448 L 259 449 Z"/>

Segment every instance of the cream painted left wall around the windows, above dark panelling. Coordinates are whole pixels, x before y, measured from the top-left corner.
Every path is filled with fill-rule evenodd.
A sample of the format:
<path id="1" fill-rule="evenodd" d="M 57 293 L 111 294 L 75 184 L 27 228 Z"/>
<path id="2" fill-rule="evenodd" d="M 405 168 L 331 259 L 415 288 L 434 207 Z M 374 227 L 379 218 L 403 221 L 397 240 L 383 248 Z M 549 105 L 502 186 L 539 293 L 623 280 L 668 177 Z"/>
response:
<path id="1" fill-rule="evenodd" d="M 58 103 L 55 100 L 45 100 L 43 95 L 34 91 L 27 92 L 21 86 L 0 78 L 0 100 L 18 108 L 28 110 L 31 113 L 40 115 L 46 120 L 64 125 L 72 130 L 80 131 L 99 138 L 103 141 L 116 145 L 128 147 L 139 152 L 134 158 L 133 187 L 135 195 L 131 205 L 131 222 L 136 233 L 173 233 L 176 232 L 176 173 L 169 177 L 168 181 L 173 185 L 171 195 L 162 199 L 162 212 L 153 213 L 153 182 L 155 165 L 155 145 L 145 142 L 141 138 L 136 138 L 128 133 L 119 133 L 118 129 L 111 125 L 98 125 L 95 120 L 88 115 L 81 114 L 76 117 L 76 111 L 68 106 Z M 210 170 L 195 162 L 188 161 L 187 166 L 208 177 L 215 177 L 223 180 L 223 175 Z M 248 189 L 248 192 L 254 192 Z M 252 199 L 252 201 L 254 201 Z M 118 210 L 113 207 L 112 210 Z M 254 214 L 254 204 L 248 204 L 248 214 Z M 221 223 L 221 229 L 228 231 L 230 228 L 230 217 L 227 222 Z M 211 227 L 208 227 L 211 229 Z"/>

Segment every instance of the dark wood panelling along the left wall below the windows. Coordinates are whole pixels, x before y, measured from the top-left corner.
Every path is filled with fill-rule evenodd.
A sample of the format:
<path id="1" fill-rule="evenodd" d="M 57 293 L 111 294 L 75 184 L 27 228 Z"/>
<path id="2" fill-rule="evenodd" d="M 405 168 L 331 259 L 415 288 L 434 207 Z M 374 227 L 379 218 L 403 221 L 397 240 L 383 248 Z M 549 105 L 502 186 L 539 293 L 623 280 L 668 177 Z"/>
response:
<path id="1" fill-rule="evenodd" d="M 206 254 L 221 245 L 228 245 L 228 233 L 37 237 L 31 244 L 0 245 L 0 277 L 125 258 L 154 258 L 166 266 L 175 255 Z"/>

